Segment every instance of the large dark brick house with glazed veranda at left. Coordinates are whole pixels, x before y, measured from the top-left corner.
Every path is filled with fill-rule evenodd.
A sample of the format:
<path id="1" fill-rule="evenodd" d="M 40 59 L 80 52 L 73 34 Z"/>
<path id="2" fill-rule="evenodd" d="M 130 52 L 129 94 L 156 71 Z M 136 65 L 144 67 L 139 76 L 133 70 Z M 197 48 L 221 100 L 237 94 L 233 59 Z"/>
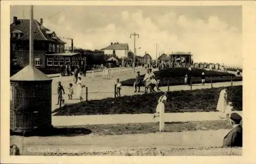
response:
<path id="1" fill-rule="evenodd" d="M 78 61 L 79 53 L 65 53 L 65 42 L 43 25 L 43 19 L 40 22 L 33 20 L 33 60 L 37 68 L 56 67 L 62 64 L 72 64 Z M 10 25 L 10 48 L 11 65 L 21 68 L 29 64 L 29 33 L 30 20 L 17 19 L 13 17 L 13 23 Z M 75 62 L 73 62 L 75 63 Z"/>

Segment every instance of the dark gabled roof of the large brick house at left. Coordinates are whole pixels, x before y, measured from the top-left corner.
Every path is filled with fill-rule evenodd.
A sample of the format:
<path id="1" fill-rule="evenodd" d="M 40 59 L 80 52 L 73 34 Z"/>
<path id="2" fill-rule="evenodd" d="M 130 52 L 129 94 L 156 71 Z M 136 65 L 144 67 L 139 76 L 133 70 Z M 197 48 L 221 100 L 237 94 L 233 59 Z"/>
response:
<path id="1" fill-rule="evenodd" d="M 23 33 L 23 36 L 18 38 L 17 40 L 29 40 L 29 26 L 30 26 L 29 19 L 17 19 L 17 23 L 12 23 L 10 25 L 10 30 L 12 31 L 20 31 Z M 52 39 L 50 35 L 47 34 L 49 29 L 45 28 L 45 26 L 41 25 L 37 20 L 34 19 L 33 24 L 33 33 L 34 33 L 34 40 L 47 40 L 53 42 L 59 42 L 65 44 L 61 39 L 57 37 L 57 39 Z"/>

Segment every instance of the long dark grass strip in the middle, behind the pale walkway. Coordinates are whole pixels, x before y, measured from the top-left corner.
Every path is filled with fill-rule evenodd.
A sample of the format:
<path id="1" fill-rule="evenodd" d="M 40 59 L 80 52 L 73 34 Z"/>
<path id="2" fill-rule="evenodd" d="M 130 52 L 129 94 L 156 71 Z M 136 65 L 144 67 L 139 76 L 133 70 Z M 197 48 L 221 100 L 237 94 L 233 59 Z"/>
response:
<path id="1" fill-rule="evenodd" d="M 228 101 L 233 103 L 236 111 L 242 111 L 242 88 L 242 86 L 227 87 Z M 165 112 L 216 111 L 222 89 L 224 87 L 168 92 Z M 155 113 L 160 96 L 161 93 L 154 93 L 84 101 L 64 105 L 52 113 L 55 116 Z"/>

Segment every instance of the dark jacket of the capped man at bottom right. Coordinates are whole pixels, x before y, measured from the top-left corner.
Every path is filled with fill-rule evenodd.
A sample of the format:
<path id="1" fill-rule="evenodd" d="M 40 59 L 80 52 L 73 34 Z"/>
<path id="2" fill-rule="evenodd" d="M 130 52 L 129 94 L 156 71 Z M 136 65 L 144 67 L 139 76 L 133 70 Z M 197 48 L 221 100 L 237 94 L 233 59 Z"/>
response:
<path id="1" fill-rule="evenodd" d="M 223 140 L 223 147 L 242 147 L 243 129 L 241 125 L 236 126 L 227 133 Z"/>

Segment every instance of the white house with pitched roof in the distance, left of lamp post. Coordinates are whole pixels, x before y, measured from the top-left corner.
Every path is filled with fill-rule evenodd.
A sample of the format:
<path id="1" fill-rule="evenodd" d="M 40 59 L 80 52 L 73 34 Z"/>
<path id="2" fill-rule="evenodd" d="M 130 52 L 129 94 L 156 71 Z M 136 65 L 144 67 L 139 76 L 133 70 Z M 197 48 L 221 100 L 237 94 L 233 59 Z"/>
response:
<path id="1" fill-rule="evenodd" d="M 104 54 L 115 54 L 118 58 L 127 58 L 129 46 L 127 43 L 111 43 L 108 47 L 102 48 Z"/>

